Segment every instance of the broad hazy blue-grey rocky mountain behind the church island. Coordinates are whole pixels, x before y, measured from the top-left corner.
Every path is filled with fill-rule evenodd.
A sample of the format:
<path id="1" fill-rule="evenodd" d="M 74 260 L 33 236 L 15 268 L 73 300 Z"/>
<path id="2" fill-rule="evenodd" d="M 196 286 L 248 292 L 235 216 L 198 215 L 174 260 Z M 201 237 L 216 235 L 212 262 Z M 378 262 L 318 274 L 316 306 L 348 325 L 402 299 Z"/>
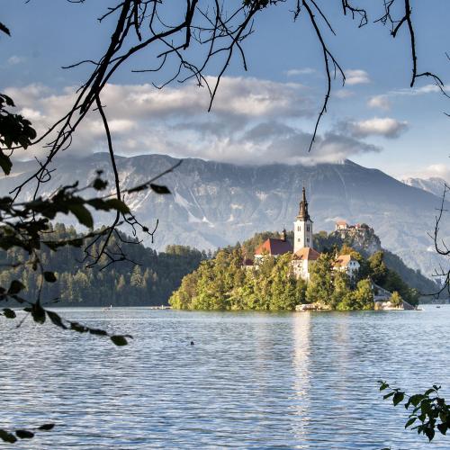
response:
<path id="1" fill-rule="evenodd" d="M 143 183 L 176 163 L 164 155 L 118 157 L 121 185 Z M 7 193 L 30 175 L 31 163 L 18 163 L 13 176 L 0 178 Z M 43 193 L 76 180 L 86 184 L 95 171 L 112 180 L 107 154 L 72 159 L 61 157 L 58 170 L 43 184 Z M 367 223 L 391 250 L 414 269 L 431 275 L 446 261 L 433 250 L 428 232 L 434 229 L 440 199 L 422 189 L 403 184 L 380 170 L 351 161 L 316 166 L 237 166 L 188 158 L 175 172 L 164 175 L 172 195 L 150 191 L 132 193 L 127 202 L 149 229 L 159 220 L 152 247 L 181 244 L 200 249 L 234 244 L 266 229 L 293 229 L 302 186 L 310 202 L 314 231 L 334 229 L 335 220 Z M 31 188 L 23 195 L 31 198 Z M 108 220 L 106 214 L 98 220 Z M 58 217 L 69 223 L 69 218 Z M 450 236 L 450 222 L 442 224 Z M 146 243 L 149 245 L 148 240 Z"/>

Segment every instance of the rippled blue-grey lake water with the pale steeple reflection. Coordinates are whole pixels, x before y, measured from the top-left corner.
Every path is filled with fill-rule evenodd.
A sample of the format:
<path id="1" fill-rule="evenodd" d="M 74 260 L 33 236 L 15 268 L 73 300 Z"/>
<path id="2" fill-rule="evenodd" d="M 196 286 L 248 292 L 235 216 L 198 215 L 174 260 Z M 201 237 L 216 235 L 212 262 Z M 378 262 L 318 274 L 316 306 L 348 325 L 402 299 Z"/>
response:
<path id="1" fill-rule="evenodd" d="M 11 448 L 450 448 L 404 430 L 376 383 L 450 392 L 449 306 L 59 312 L 134 340 L 0 320 L 0 428 L 57 423 Z"/>

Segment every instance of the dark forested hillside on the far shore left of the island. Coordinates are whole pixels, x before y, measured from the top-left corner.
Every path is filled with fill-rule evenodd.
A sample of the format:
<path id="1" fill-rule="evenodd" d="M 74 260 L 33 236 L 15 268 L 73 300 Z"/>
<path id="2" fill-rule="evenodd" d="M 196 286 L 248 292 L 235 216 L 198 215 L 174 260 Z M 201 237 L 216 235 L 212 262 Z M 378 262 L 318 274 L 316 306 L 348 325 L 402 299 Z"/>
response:
<path id="1" fill-rule="evenodd" d="M 61 240 L 77 238 L 72 227 L 55 225 L 46 239 Z M 144 247 L 135 239 L 121 243 L 121 249 L 130 261 L 120 261 L 102 269 L 107 257 L 102 257 L 97 266 L 85 270 L 89 258 L 84 261 L 83 248 L 60 247 L 52 251 L 42 247 L 42 261 L 46 270 L 56 274 L 57 282 L 44 284 L 43 302 L 57 301 L 58 306 L 140 306 L 166 304 L 171 293 L 180 285 L 184 275 L 196 269 L 207 255 L 204 252 L 183 246 L 167 246 L 166 251 L 157 253 Z M 112 245 L 113 245 L 112 241 Z M 102 241 L 90 248 L 95 255 Z M 39 271 L 31 265 L 7 268 L 4 265 L 25 258 L 17 248 L 0 251 L 0 285 L 9 285 L 13 279 L 20 280 L 26 287 L 23 297 L 37 298 Z M 133 264 L 136 263 L 136 264 Z"/>

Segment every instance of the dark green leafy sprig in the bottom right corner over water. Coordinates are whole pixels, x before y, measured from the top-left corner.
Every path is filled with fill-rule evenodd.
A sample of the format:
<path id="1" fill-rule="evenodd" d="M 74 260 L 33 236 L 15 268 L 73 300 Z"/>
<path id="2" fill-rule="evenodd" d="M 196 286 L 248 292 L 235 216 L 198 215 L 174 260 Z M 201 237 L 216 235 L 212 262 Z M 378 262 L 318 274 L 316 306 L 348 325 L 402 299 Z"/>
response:
<path id="1" fill-rule="evenodd" d="M 380 391 L 389 390 L 383 395 L 384 400 L 392 399 L 394 406 L 403 403 L 405 410 L 411 410 L 405 428 L 417 430 L 419 435 L 427 436 L 429 441 L 435 437 L 436 429 L 446 435 L 450 428 L 450 406 L 446 404 L 446 399 L 439 397 L 440 386 L 434 384 L 424 393 L 407 395 L 400 389 L 393 389 L 388 383 L 378 383 Z"/>

